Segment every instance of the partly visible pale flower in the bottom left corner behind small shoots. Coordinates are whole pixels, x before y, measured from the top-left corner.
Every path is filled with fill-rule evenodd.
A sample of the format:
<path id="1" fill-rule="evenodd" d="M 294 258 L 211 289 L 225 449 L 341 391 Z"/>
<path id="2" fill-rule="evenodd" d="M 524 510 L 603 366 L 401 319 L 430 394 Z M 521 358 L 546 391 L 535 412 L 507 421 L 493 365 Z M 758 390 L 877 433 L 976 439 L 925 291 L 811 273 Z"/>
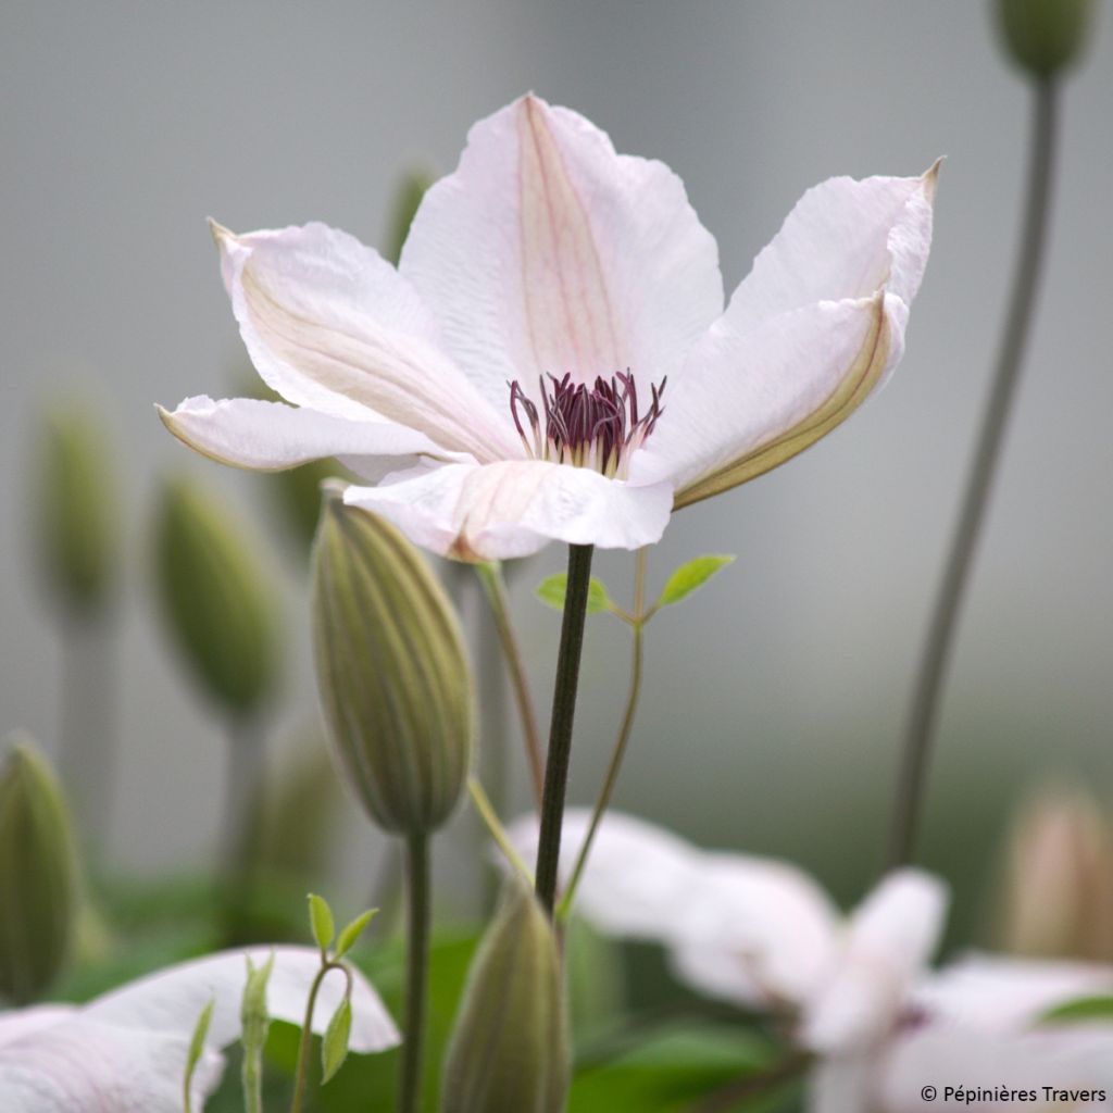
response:
<path id="1" fill-rule="evenodd" d="M 191 1095 L 194 1109 L 200 1110 L 220 1081 L 220 1048 L 239 1038 L 245 956 L 260 965 L 272 954 L 267 1009 L 275 1020 L 301 1024 L 321 968 L 319 952 L 309 947 L 229 951 L 159 971 L 86 1005 L 0 1013 L 0 1110 L 180 1113 L 190 1037 L 211 1001 L 213 1018 Z M 322 983 L 315 1032 L 324 1032 L 343 994 L 339 974 Z M 378 1052 L 398 1042 L 378 995 L 356 972 L 351 1050 Z"/>

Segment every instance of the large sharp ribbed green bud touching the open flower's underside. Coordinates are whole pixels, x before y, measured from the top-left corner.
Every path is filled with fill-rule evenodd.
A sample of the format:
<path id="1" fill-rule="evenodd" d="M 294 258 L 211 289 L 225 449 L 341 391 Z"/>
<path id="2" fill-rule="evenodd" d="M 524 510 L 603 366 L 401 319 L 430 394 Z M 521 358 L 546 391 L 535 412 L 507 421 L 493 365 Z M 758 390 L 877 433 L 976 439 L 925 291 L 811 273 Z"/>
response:
<path id="1" fill-rule="evenodd" d="M 452 605 L 394 526 L 328 494 L 313 562 L 321 703 L 344 778 L 388 831 L 439 827 L 471 759 L 474 697 Z"/>

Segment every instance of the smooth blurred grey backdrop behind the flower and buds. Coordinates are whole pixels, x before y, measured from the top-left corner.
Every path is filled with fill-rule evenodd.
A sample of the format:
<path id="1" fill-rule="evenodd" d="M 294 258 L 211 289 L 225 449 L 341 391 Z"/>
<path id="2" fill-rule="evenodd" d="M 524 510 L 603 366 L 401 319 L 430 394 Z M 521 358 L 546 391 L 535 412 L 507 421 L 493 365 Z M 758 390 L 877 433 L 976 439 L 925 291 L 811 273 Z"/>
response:
<path id="1" fill-rule="evenodd" d="M 959 885 L 966 928 L 1024 784 L 1054 770 L 1113 797 L 1109 19 L 1097 32 L 1066 90 L 1044 296 L 933 774 L 923 860 Z M 48 748 L 58 732 L 59 636 L 35 590 L 26 522 L 37 408 L 73 391 L 110 422 L 127 484 L 126 760 L 111 838 L 122 866 L 201 860 L 223 775 L 220 723 L 152 613 L 156 479 L 205 474 L 275 548 L 260 481 L 191 457 L 152 408 L 236 393 L 242 355 L 204 218 L 243 229 L 316 218 L 381 242 L 403 168 L 451 169 L 469 126 L 526 89 L 584 112 L 620 150 L 671 165 L 718 237 L 728 288 L 808 186 L 948 156 L 893 383 L 804 456 L 681 513 L 652 554 L 658 585 L 700 552 L 739 559 L 651 629 L 618 797 L 705 843 L 790 855 L 844 899 L 878 867 L 1016 252 L 1030 93 L 987 7 L 969 0 L 4 4 L 0 725 Z M 282 739 L 315 705 L 298 563 L 277 548 L 273 562 L 297 646 Z M 548 551 L 515 590 L 541 697 L 559 618 L 530 588 L 560 562 Z M 599 560 L 619 598 L 631 563 Z M 626 631 L 593 620 L 580 801 L 627 669 Z"/>

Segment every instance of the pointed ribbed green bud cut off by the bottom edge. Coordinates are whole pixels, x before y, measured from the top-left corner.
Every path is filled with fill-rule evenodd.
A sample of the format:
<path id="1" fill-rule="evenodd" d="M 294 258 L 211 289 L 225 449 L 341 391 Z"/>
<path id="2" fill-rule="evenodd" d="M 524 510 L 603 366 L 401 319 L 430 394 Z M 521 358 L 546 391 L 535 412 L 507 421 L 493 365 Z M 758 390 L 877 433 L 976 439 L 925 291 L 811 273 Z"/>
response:
<path id="1" fill-rule="evenodd" d="M 560 953 L 518 878 L 472 963 L 444 1068 L 442 1113 L 561 1113 L 570 1054 Z"/>

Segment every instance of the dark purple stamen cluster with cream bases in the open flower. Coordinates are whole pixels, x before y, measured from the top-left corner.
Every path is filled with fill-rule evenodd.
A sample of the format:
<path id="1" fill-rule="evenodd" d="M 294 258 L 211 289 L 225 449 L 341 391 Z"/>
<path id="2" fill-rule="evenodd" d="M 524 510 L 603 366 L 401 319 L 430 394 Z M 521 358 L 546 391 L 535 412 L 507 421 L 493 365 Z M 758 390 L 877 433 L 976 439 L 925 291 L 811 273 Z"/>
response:
<path id="1" fill-rule="evenodd" d="M 515 378 L 510 386 L 510 412 L 526 453 L 534 460 L 549 460 L 573 467 L 591 467 L 612 479 L 626 479 L 627 465 L 634 450 L 641 447 L 664 413 L 661 397 L 668 376 L 660 386 L 651 386 L 649 408 L 638 412 L 638 387 L 633 376 L 601 375 L 593 386 L 573 383 L 571 375 L 540 380 L 544 405 L 541 415 Z M 523 421 L 524 416 L 524 421 Z"/>

